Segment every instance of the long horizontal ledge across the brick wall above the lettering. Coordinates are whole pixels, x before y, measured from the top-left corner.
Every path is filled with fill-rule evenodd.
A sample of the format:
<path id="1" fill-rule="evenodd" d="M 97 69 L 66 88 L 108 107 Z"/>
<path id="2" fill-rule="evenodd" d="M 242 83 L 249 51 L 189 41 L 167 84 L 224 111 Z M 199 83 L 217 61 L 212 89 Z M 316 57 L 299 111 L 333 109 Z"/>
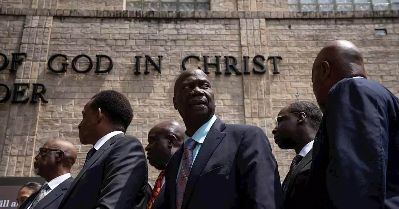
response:
<path id="1" fill-rule="evenodd" d="M 49 10 L 0 8 L 0 15 L 38 15 L 92 18 L 200 18 L 200 19 L 335 19 L 335 18 L 398 18 L 399 10 L 356 12 L 154 12 L 127 10 Z"/>

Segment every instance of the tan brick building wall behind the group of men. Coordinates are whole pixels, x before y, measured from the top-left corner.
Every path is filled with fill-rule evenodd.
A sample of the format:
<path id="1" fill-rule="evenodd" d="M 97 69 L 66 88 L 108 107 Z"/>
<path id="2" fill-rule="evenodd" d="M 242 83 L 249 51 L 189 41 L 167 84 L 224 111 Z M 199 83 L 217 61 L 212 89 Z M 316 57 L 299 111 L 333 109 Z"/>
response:
<path id="1" fill-rule="evenodd" d="M 164 4 L 155 2 L 158 7 Z M 327 41 L 354 42 L 363 52 L 369 78 L 399 95 L 399 11 L 394 10 L 395 0 L 383 4 L 387 5 L 385 11 L 376 11 L 378 5 L 369 3 L 374 11 L 346 12 L 337 11 L 338 4 L 333 6 L 335 11 L 323 12 L 321 0 L 315 4 L 319 8 L 315 12 L 290 12 L 295 11 L 290 0 L 204 2 L 205 6 L 196 3 L 185 7 L 210 11 L 126 10 L 134 9 L 134 5 L 144 7 L 143 2 L 129 0 L 0 0 L 0 53 L 9 62 L 0 71 L 0 83 L 9 86 L 12 94 L 15 83 L 29 83 L 25 96 L 18 97 L 28 98 L 28 103 L 12 103 L 11 96 L 0 104 L 0 176 L 34 176 L 32 156 L 49 139 L 64 139 L 76 145 L 79 154 L 72 171 L 76 176 L 91 148 L 81 145 L 78 139 L 81 110 L 101 90 L 114 89 L 128 97 L 134 119 L 127 133 L 146 146 L 153 125 L 168 119 L 182 122 L 172 104 L 173 84 L 182 72 L 183 59 L 189 55 L 198 56 L 200 61 L 189 59 L 187 68 L 201 69 L 205 69 L 203 56 L 209 57 L 207 63 L 215 63 L 215 56 L 221 56 L 221 74 L 209 65 L 216 114 L 227 123 L 262 127 L 273 146 L 282 179 L 294 152 L 275 145 L 271 133 L 274 117 L 284 105 L 315 101 L 310 80 L 312 62 Z M 180 4 L 176 10 L 182 10 Z M 301 11 L 306 10 L 298 5 Z M 377 33 L 381 31 L 382 35 Z M 11 72 L 12 53 L 27 55 L 19 56 L 23 62 L 16 72 Z M 68 62 L 57 57 L 51 66 L 60 70 L 62 63 L 68 63 L 66 72 L 49 70 L 47 61 L 57 54 L 66 55 Z M 72 68 L 73 59 L 82 54 L 92 60 L 92 69 L 87 73 Z M 112 59 L 110 72 L 95 72 L 96 55 Z M 156 65 L 160 62 L 158 56 L 162 56 L 161 73 L 150 61 L 149 73 L 144 73 L 146 55 Z M 262 70 L 253 63 L 256 55 L 266 59 L 257 59 L 267 66 L 264 73 L 252 70 Z M 135 74 L 136 56 L 142 57 L 141 74 Z M 233 68 L 232 74 L 225 73 L 224 56 L 237 58 L 241 75 Z M 249 57 L 248 68 L 245 56 Z M 273 59 L 267 60 L 271 56 L 282 58 L 276 63 L 279 74 L 273 74 Z M 3 66 L 4 57 L 0 59 Z M 85 70 L 89 65 L 88 59 L 81 57 L 75 66 Z M 101 59 L 100 70 L 108 65 L 108 59 Z M 244 73 L 245 69 L 249 74 Z M 35 83 L 45 86 L 48 103 L 30 103 Z M 6 88 L 0 86 L 0 99 L 5 96 Z M 154 182 L 156 176 L 158 171 L 149 166 L 150 181 Z"/>

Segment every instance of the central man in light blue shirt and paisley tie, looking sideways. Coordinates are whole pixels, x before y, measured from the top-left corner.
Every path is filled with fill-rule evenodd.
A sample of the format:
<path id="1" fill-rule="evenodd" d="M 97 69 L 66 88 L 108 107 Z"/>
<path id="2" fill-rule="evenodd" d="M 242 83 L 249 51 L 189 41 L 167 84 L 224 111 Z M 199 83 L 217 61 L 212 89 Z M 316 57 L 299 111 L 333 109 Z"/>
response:
<path id="1" fill-rule="evenodd" d="M 278 166 L 265 132 L 217 118 L 211 82 L 203 71 L 180 74 L 173 103 L 186 131 L 184 144 L 166 167 L 166 208 L 281 207 Z"/>

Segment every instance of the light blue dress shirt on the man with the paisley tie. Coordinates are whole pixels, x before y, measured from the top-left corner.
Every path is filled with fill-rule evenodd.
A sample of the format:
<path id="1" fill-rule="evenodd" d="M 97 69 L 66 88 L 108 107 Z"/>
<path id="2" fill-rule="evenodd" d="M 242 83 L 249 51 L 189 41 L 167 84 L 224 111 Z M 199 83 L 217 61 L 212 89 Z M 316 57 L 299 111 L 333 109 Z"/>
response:
<path id="1" fill-rule="evenodd" d="M 196 160 L 197 154 L 199 152 L 199 149 L 201 148 L 203 141 L 205 141 L 205 137 L 206 135 L 208 135 L 208 132 L 211 129 L 213 123 L 215 123 L 216 119 L 217 119 L 216 115 L 213 115 L 208 122 L 204 123 L 201 127 L 199 127 L 199 129 L 196 131 L 196 133 L 194 133 L 192 137 L 189 137 L 186 134 L 184 134 L 184 143 L 186 143 L 188 139 L 194 139 L 194 141 L 197 142 L 197 145 L 193 150 L 194 158 L 191 166 L 193 166 L 194 161 Z M 180 160 L 180 166 L 179 166 L 179 171 L 177 172 L 176 182 L 179 180 L 179 174 L 181 168 L 182 168 L 182 160 Z"/>

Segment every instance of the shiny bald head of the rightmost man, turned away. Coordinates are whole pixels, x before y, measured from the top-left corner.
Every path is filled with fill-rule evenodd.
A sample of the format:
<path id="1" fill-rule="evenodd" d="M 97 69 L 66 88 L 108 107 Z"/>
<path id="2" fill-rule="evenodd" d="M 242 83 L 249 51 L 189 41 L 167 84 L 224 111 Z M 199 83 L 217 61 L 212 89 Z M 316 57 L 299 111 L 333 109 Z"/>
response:
<path id="1" fill-rule="evenodd" d="M 324 111 L 328 92 L 340 80 L 356 76 L 366 77 L 363 56 L 350 41 L 327 43 L 314 60 L 312 67 L 313 92 Z"/>

